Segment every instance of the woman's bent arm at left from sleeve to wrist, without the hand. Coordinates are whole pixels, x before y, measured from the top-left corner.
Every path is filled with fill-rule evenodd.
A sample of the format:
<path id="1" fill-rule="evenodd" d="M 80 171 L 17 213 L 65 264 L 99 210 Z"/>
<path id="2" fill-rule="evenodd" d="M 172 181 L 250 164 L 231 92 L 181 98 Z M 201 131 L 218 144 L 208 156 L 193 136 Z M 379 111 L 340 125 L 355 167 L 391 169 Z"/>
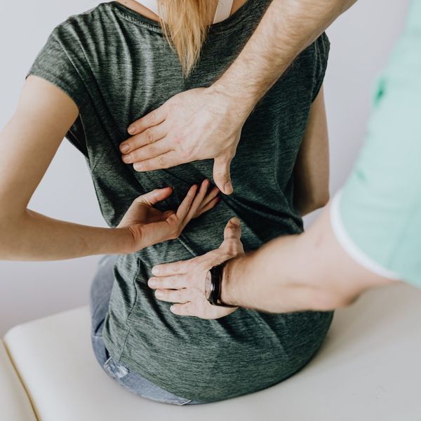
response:
<path id="1" fill-rule="evenodd" d="M 122 253 L 126 230 L 88 227 L 27 209 L 79 110 L 52 83 L 29 76 L 0 132 L 0 259 L 60 260 Z"/>

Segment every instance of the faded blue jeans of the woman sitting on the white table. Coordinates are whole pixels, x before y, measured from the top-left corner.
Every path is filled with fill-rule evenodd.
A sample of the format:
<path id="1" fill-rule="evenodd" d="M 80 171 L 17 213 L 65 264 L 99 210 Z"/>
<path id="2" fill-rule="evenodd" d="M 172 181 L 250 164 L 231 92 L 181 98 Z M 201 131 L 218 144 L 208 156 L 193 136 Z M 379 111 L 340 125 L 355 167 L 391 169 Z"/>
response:
<path id="1" fill-rule="evenodd" d="M 154 385 L 141 375 L 116 361 L 109 355 L 102 340 L 102 328 L 108 312 L 109 298 L 114 283 L 113 267 L 116 255 L 105 255 L 98 263 L 98 271 L 91 285 L 91 340 L 93 352 L 98 363 L 110 377 L 120 385 L 146 399 L 175 405 L 192 405 L 196 402 L 191 399 L 181 398 Z"/>

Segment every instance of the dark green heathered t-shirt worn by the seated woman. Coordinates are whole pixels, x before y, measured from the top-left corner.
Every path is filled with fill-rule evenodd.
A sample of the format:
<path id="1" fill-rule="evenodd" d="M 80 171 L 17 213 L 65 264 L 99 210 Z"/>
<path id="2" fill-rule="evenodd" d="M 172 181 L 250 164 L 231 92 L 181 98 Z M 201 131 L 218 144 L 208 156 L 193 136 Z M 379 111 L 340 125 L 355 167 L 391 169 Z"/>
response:
<path id="1" fill-rule="evenodd" d="M 115 1 L 55 27 L 29 74 L 62 88 L 79 107 L 67 138 L 86 158 L 102 215 L 119 224 L 133 199 L 173 186 L 159 209 L 175 209 L 187 189 L 212 179 L 213 160 L 138 173 L 121 160 L 130 123 L 176 93 L 210 86 L 236 58 L 269 0 L 248 0 L 210 27 L 194 72 L 182 78 L 176 53 L 157 22 Z M 323 34 L 290 66 L 246 121 L 232 161 L 234 194 L 189 223 L 179 239 L 119 255 L 103 338 L 114 359 L 186 399 L 216 401 L 269 387 L 292 375 L 319 349 L 331 313 L 264 314 L 246 309 L 218 320 L 180 317 L 147 286 L 161 262 L 185 260 L 220 246 L 233 216 L 254 250 L 302 232 L 293 206 L 293 168 L 312 101 L 326 70 Z M 305 264 L 305 262 L 303 262 Z M 256 279 L 258 282 L 259 279 Z"/>

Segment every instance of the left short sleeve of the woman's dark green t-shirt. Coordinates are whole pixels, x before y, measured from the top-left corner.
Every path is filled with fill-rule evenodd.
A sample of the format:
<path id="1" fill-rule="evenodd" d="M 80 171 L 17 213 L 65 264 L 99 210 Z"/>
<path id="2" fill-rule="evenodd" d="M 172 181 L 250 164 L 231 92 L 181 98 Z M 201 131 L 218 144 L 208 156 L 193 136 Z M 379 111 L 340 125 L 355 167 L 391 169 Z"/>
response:
<path id="1" fill-rule="evenodd" d="M 58 86 L 69 95 L 79 108 L 86 102 L 86 93 L 81 76 L 74 66 L 70 51 L 63 46 L 63 41 L 58 38 L 55 29 L 36 56 L 32 67 L 27 72 Z"/>

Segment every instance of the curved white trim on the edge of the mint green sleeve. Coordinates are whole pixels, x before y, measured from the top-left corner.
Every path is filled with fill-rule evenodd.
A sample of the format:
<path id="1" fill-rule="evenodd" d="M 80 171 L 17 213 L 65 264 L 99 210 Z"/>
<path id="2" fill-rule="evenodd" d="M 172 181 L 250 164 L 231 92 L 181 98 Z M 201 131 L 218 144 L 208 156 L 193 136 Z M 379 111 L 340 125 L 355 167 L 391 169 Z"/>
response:
<path id="1" fill-rule="evenodd" d="M 377 275 L 383 276 L 388 279 L 394 279 L 398 281 L 401 279 L 395 272 L 392 272 L 389 269 L 386 269 L 379 263 L 375 262 L 368 255 L 363 253 L 362 250 L 354 243 L 351 237 L 348 235 L 340 217 L 340 196 L 342 192 L 339 191 L 333 197 L 332 203 L 330 204 L 330 223 L 332 225 L 333 232 L 338 239 L 340 245 L 347 254 L 353 258 L 359 265 L 365 267 L 370 272 L 373 272 Z"/>

